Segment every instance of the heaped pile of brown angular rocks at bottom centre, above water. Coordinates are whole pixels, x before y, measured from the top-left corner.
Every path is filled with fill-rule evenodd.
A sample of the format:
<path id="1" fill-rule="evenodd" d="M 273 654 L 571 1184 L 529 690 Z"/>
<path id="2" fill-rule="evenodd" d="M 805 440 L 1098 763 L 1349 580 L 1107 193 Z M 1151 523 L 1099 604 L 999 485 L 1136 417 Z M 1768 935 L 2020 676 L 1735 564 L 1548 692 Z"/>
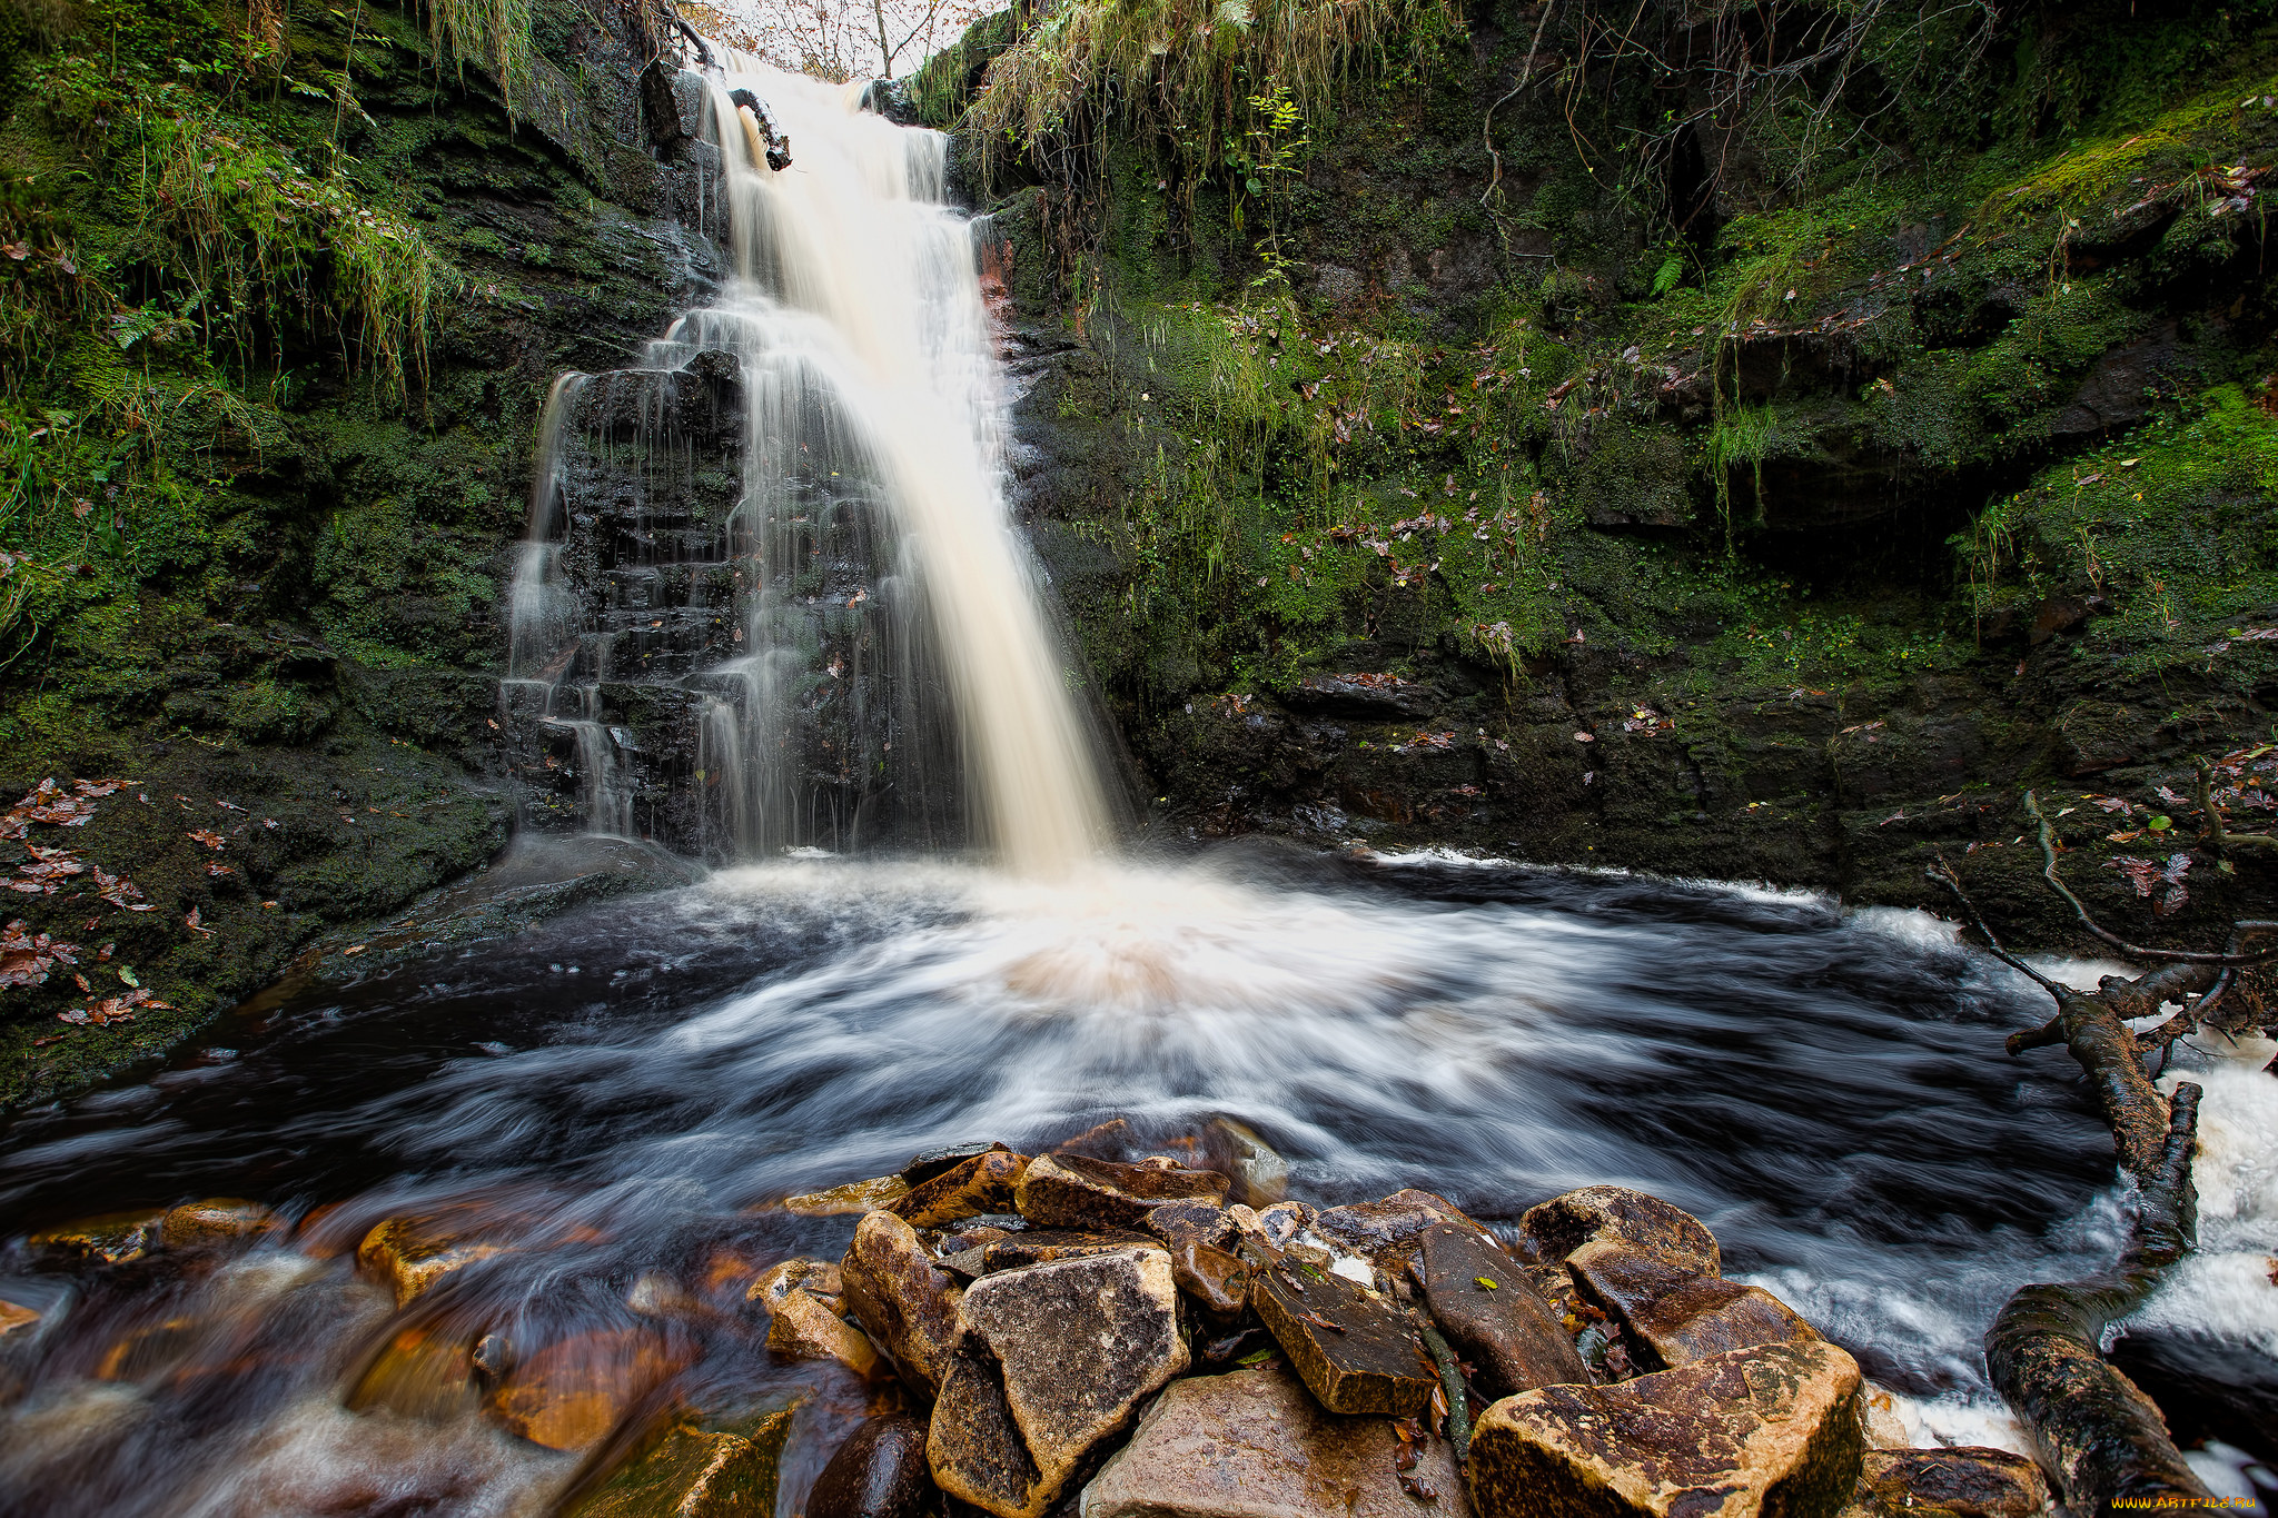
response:
<path id="1" fill-rule="evenodd" d="M 1506 1243 L 1426 1190 L 1314 1208 L 1084 1147 L 788 1202 L 868 1208 L 836 1302 L 920 1409 L 843 1445 L 806 1518 L 2048 1509 L 2025 1459 L 1904 1447 L 1852 1356 L 1656 1197 L 1567 1193 Z"/>

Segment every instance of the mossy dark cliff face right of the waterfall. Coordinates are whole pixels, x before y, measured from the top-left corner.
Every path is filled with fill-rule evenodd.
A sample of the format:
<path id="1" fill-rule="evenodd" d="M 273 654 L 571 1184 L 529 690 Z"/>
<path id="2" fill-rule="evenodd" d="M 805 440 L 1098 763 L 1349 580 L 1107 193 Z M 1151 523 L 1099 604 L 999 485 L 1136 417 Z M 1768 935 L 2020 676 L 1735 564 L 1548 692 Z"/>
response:
<path id="1" fill-rule="evenodd" d="M 1474 5 L 1207 164 L 1116 107 L 989 173 L 968 134 L 1021 503 L 1155 833 L 1950 908 L 1943 853 L 2062 942 L 2039 787 L 2119 922 L 2267 897 L 2203 851 L 2153 922 L 2114 867 L 2196 842 L 2194 756 L 2269 808 L 2267 18 L 1886 46 L 1816 162 L 1702 107 L 1699 18 L 1640 11 L 1647 80 L 1592 18 Z"/>

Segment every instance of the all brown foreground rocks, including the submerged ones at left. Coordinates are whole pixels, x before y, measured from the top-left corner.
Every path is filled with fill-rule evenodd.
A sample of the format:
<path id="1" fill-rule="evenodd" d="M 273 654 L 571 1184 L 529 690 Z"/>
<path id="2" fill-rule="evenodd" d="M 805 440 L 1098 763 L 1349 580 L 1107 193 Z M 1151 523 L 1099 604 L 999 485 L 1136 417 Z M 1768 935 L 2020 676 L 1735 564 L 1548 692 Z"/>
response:
<path id="1" fill-rule="evenodd" d="M 1667 1202 L 1590 1186 L 1506 1238 L 1428 1190 L 1317 1208 L 1280 1199 L 1283 1179 L 1237 1124 L 1187 1154 L 1141 1154 L 1107 1124 L 1050 1154 L 975 1145 L 786 1197 L 859 1215 L 845 1256 L 752 1265 L 727 1290 L 770 1354 L 845 1366 L 870 1411 L 802 1518 L 2050 1509 L 2032 1461 L 1907 1447 L 1852 1356 L 1724 1279 L 1715 1238 Z M 788 1409 L 708 1422 L 667 1395 L 679 1411 L 654 1416 L 695 1356 L 672 1336 L 585 1331 L 517 1354 L 444 1331 L 408 1309 L 515 1245 L 433 1218 L 353 1229 L 333 1249 L 392 1290 L 399 1327 L 349 1409 L 451 1416 L 485 1388 L 515 1436 L 588 1452 L 563 1518 L 777 1511 Z M 118 1265 L 287 1234 L 257 1204 L 205 1202 L 27 1245 Z M 298 1238 L 326 1249 L 321 1213 Z M 686 1315 L 690 1290 L 642 1274 L 626 1306 Z M 36 1320 L 0 1302 L 0 1370 Z"/>

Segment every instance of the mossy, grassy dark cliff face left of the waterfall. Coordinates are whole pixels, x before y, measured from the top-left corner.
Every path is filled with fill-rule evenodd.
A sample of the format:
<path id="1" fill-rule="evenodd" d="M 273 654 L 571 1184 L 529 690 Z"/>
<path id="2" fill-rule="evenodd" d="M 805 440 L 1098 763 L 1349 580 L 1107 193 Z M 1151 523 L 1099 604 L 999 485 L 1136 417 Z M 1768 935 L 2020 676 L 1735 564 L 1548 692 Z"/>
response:
<path id="1" fill-rule="evenodd" d="M 497 853 L 510 772 L 563 767 L 497 721 L 538 407 L 654 337 L 708 244 L 642 121 L 661 14 L 0 25 L 0 801 L 125 781 L 75 826 L 9 817 L 59 869 L 5 910 L 9 1099 Z"/>

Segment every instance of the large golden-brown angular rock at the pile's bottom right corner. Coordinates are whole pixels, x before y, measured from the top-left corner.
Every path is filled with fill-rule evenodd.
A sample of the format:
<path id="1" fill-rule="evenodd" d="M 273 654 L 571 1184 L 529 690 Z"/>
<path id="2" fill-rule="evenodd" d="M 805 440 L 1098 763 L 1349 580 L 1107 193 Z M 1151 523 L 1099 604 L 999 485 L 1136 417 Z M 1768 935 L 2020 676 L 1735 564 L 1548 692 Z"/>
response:
<path id="1" fill-rule="evenodd" d="M 1469 1482 L 1488 1518 L 1832 1518 L 1859 1468 L 1859 1366 L 1809 1343 L 1506 1397 Z"/>

